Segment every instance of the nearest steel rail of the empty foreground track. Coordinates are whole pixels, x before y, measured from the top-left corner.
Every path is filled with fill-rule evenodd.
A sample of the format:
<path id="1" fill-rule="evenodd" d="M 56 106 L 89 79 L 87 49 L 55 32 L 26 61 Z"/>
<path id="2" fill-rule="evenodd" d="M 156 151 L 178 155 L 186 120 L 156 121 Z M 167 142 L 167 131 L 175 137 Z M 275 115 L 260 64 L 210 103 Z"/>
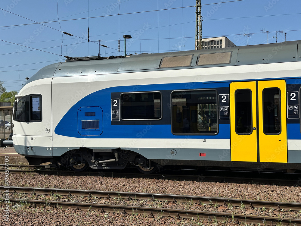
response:
<path id="1" fill-rule="evenodd" d="M 4 201 L 5 199 L 1 198 Z M 117 212 L 123 215 L 130 214 L 147 214 L 149 217 L 163 216 L 163 217 L 175 217 L 178 219 L 207 219 L 208 221 L 231 221 L 234 224 L 246 223 L 246 224 L 262 224 L 262 222 L 273 222 L 280 221 L 282 224 L 301 226 L 301 219 L 293 218 L 277 218 L 277 217 L 266 217 L 266 216 L 255 216 L 255 215 L 242 215 L 242 214 L 231 214 L 231 213 L 220 213 L 220 212 L 204 212 L 196 210 L 181 210 L 181 209 L 167 209 L 167 208 L 152 208 L 152 207 L 141 207 L 141 206 L 119 206 L 119 205 L 106 205 L 106 204 L 95 204 L 95 203 L 79 203 L 79 202 L 57 202 L 57 201 L 43 201 L 43 200 L 25 200 L 25 199 L 10 199 L 11 203 L 27 203 L 33 206 L 44 206 L 44 207 L 57 207 L 57 208 L 73 208 L 73 209 L 88 209 L 100 212 Z"/>

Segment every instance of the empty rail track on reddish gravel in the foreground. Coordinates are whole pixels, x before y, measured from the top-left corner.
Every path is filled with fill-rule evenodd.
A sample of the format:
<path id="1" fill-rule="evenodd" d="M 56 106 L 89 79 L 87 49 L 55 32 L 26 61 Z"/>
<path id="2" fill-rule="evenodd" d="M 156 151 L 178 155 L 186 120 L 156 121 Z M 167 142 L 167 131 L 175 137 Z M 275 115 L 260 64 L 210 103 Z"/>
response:
<path id="1" fill-rule="evenodd" d="M 7 187 L 0 187 L 1 191 L 5 191 Z M 179 196 L 179 195 L 167 195 L 167 194 L 151 194 L 151 193 L 128 193 L 128 192 L 114 192 L 114 191 L 96 191 L 96 190 L 64 190 L 54 188 L 33 188 L 33 187 L 10 187 L 10 192 L 14 193 L 32 193 L 32 194 L 45 194 L 52 196 L 54 194 L 59 195 L 76 195 L 86 197 L 100 197 L 105 199 L 143 199 L 151 201 L 167 201 L 172 203 L 177 202 L 193 202 L 195 206 L 206 204 L 215 204 L 219 206 L 240 206 L 244 204 L 248 206 L 248 209 L 253 208 L 274 208 L 276 211 L 285 210 L 301 210 L 300 203 L 291 202 L 270 202 L 270 201 L 259 201 L 259 200 L 246 200 L 246 199 L 226 199 L 216 197 L 204 197 L 204 196 Z M 4 199 L 1 199 L 4 200 Z M 224 221 L 232 222 L 234 224 L 245 223 L 245 224 L 262 224 L 265 225 L 276 225 L 281 223 L 282 225 L 300 225 L 301 219 L 295 218 L 279 218 L 279 217 L 267 217 L 247 214 L 232 214 L 225 212 L 208 212 L 199 210 L 183 210 L 183 209 L 172 209 L 172 208 L 157 208 L 157 207 L 146 207 L 146 206 L 130 206 L 130 205 L 108 205 L 98 203 L 83 203 L 83 202 L 60 202 L 60 201 L 45 201 L 45 200 L 31 200 L 31 199 L 10 199 L 13 203 L 27 203 L 28 205 L 43 206 L 43 207 L 54 207 L 54 208 L 73 208 L 73 209 L 85 209 L 99 212 L 117 212 L 123 215 L 129 214 L 144 214 L 148 217 L 154 216 L 170 216 L 178 219 L 196 219 L 204 218 L 208 221 Z M 173 205 L 171 205 L 172 207 Z M 274 224 L 275 223 L 275 224 Z"/>

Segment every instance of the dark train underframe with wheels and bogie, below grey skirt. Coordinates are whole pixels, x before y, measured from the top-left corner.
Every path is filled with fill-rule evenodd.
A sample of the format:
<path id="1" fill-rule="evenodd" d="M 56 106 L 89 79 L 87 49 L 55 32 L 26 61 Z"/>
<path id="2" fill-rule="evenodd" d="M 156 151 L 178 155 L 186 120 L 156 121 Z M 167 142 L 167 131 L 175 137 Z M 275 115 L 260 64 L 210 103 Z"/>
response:
<path id="1" fill-rule="evenodd" d="M 231 161 L 199 161 L 199 160 L 169 160 L 147 159 L 144 156 L 124 149 L 89 149 L 79 148 L 70 150 L 60 157 L 53 159 L 26 157 L 29 164 L 38 165 L 51 162 L 58 167 L 69 168 L 73 171 L 86 169 L 117 169 L 122 170 L 128 166 L 135 166 L 144 174 L 154 173 L 165 165 L 206 167 L 211 169 L 229 169 L 233 171 L 247 170 L 257 172 L 290 172 L 301 170 L 301 164 L 296 163 L 270 163 L 270 162 L 231 162 Z"/>

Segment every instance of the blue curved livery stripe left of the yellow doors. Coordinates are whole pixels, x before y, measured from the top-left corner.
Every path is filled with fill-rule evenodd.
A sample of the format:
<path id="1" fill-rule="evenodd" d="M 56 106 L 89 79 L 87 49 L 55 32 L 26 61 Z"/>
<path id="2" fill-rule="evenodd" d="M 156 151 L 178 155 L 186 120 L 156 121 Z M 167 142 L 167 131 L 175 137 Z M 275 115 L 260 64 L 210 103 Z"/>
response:
<path id="1" fill-rule="evenodd" d="M 197 77 L 196 77 L 197 79 Z M 229 83 L 214 83 L 214 87 L 227 87 Z M 175 83 L 143 86 L 120 86 L 96 91 L 85 96 L 73 105 L 55 127 L 54 133 L 67 137 L 78 138 L 187 138 L 187 136 L 173 135 L 171 125 L 111 125 L 111 93 L 153 90 L 177 89 L 209 89 L 212 84 Z M 81 107 L 101 107 L 103 110 L 103 133 L 99 136 L 82 136 L 78 132 L 78 110 Z M 142 133 L 142 134 L 141 134 Z M 219 124 L 217 135 L 190 135 L 189 138 L 230 139 L 230 125 Z"/>

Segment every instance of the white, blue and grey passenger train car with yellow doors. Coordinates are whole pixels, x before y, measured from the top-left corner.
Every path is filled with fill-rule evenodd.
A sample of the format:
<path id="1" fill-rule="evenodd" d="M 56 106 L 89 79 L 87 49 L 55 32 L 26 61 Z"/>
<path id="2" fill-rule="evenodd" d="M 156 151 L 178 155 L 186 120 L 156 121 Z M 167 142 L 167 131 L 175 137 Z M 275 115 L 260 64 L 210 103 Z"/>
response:
<path id="1" fill-rule="evenodd" d="M 301 41 L 69 58 L 16 95 L 30 163 L 151 173 L 164 165 L 301 169 Z"/>

